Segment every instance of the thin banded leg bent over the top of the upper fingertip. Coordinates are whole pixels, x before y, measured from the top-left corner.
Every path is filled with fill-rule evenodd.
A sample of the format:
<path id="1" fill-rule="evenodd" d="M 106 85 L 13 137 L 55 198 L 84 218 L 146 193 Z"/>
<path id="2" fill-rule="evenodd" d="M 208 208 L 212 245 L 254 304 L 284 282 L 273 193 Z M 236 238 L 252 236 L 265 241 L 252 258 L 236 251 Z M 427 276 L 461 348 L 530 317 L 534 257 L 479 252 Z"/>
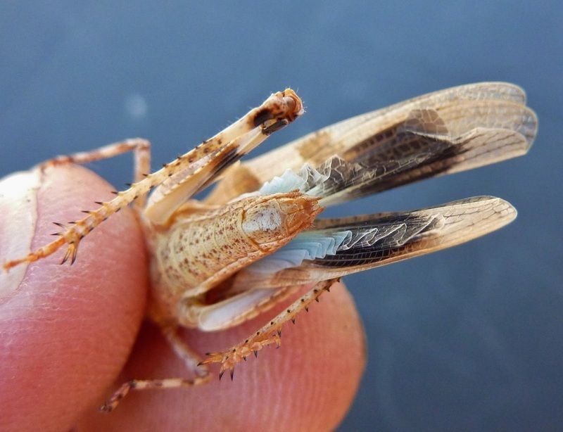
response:
<path id="1" fill-rule="evenodd" d="M 45 160 L 39 164 L 39 168 L 45 170 L 49 167 L 67 165 L 69 163 L 84 164 L 96 160 L 115 158 L 129 151 L 134 152 L 133 182 L 139 182 L 151 172 L 151 143 L 142 138 L 125 139 L 91 151 L 81 151 L 70 155 L 60 155 L 56 158 Z M 141 208 L 144 205 L 144 196 L 135 201 L 135 206 Z"/>

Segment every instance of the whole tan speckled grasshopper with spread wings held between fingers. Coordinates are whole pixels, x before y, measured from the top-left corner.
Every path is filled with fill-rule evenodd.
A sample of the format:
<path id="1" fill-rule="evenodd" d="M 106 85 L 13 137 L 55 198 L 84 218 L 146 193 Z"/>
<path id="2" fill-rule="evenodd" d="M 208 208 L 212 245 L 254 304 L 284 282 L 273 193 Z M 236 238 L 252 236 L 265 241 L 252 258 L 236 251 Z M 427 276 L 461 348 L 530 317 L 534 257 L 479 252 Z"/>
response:
<path id="1" fill-rule="evenodd" d="M 297 94 L 272 94 L 233 125 L 150 172 L 150 144 L 129 139 L 88 153 L 58 156 L 41 167 L 87 163 L 135 153 L 134 183 L 70 224 L 53 242 L 16 265 L 66 247 L 75 262 L 80 242 L 133 203 L 151 257 L 150 317 L 186 363 L 191 379 L 133 380 L 101 409 L 132 389 L 197 386 L 208 364 L 231 378 L 238 362 L 281 343 L 281 326 L 318 300 L 340 277 L 455 246 L 508 224 L 516 210 L 500 198 L 476 196 L 407 212 L 317 218 L 323 208 L 429 177 L 524 155 L 537 132 L 524 91 L 484 82 L 436 91 L 324 127 L 270 153 L 239 159 L 303 114 Z M 191 199 L 213 183 L 203 201 Z M 296 288 L 314 284 L 280 315 L 241 343 L 202 360 L 179 326 L 220 331 L 251 319 Z"/>

